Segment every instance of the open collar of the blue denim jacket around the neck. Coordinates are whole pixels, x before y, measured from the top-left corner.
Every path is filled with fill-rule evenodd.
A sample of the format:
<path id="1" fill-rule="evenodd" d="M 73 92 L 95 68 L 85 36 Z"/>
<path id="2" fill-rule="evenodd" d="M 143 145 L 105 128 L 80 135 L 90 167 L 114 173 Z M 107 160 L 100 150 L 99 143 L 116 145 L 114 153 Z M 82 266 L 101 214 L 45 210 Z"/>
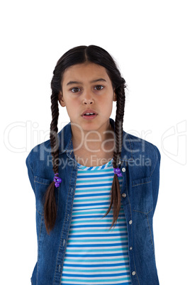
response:
<path id="1" fill-rule="evenodd" d="M 111 126 L 115 131 L 115 121 L 112 118 L 109 118 Z M 67 151 L 67 156 L 75 160 L 74 152 L 73 152 L 73 145 L 72 145 L 72 129 L 71 129 L 71 122 L 65 125 L 62 130 L 57 134 L 58 140 L 60 143 L 59 147 L 59 154 Z M 128 161 L 133 160 L 133 143 L 130 139 L 128 133 L 125 133 L 123 130 L 123 145 L 121 150 L 121 161 Z"/>

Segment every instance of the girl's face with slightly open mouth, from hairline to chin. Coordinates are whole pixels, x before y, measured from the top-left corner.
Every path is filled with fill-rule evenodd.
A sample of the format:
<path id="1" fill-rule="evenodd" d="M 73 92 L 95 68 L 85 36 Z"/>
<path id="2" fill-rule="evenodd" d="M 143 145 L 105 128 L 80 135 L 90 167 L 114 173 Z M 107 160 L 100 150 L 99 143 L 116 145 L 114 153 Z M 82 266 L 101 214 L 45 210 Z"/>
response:
<path id="1" fill-rule="evenodd" d="M 106 69 L 88 62 L 65 70 L 59 101 L 62 107 L 66 106 L 71 123 L 84 131 L 103 131 L 108 129 L 116 94 Z M 90 120 L 84 118 L 82 113 L 87 109 L 96 111 L 97 116 Z"/>

